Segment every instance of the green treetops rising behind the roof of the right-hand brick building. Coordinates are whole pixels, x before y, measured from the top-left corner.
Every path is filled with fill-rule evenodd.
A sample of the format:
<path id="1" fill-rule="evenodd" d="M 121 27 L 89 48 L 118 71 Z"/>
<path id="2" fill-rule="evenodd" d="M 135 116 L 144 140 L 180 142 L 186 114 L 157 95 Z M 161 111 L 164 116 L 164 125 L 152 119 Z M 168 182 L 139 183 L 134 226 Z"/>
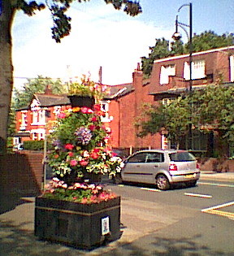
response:
<path id="1" fill-rule="evenodd" d="M 234 35 L 232 33 L 217 35 L 213 31 L 205 31 L 200 35 L 194 34 L 193 36 L 193 52 L 199 52 L 203 50 L 210 50 L 219 47 L 233 46 Z M 142 71 L 145 77 L 149 77 L 152 72 L 154 60 L 163 59 L 170 56 L 188 54 L 189 44 L 183 43 L 183 41 L 174 41 L 171 43 L 171 50 L 169 50 L 169 41 L 162 39 L 156 39 L 155 46 L 150 47 L 149 57 L 142 57 Z"/>

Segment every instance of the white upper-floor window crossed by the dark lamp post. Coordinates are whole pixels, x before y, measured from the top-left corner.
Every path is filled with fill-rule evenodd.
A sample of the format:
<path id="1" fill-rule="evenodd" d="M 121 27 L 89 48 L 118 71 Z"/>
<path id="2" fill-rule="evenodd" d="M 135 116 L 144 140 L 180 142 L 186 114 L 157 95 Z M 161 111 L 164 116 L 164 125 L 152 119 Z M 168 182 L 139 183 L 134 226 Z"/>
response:
<path id="1" fill-rule="evenodd" d="M 184 79 L 190 80 L 189 63 L 184 63 Z M 206 77 L 205 60 L 197 60 L 192 63 L 192 79 L 201 79 Z"/>

